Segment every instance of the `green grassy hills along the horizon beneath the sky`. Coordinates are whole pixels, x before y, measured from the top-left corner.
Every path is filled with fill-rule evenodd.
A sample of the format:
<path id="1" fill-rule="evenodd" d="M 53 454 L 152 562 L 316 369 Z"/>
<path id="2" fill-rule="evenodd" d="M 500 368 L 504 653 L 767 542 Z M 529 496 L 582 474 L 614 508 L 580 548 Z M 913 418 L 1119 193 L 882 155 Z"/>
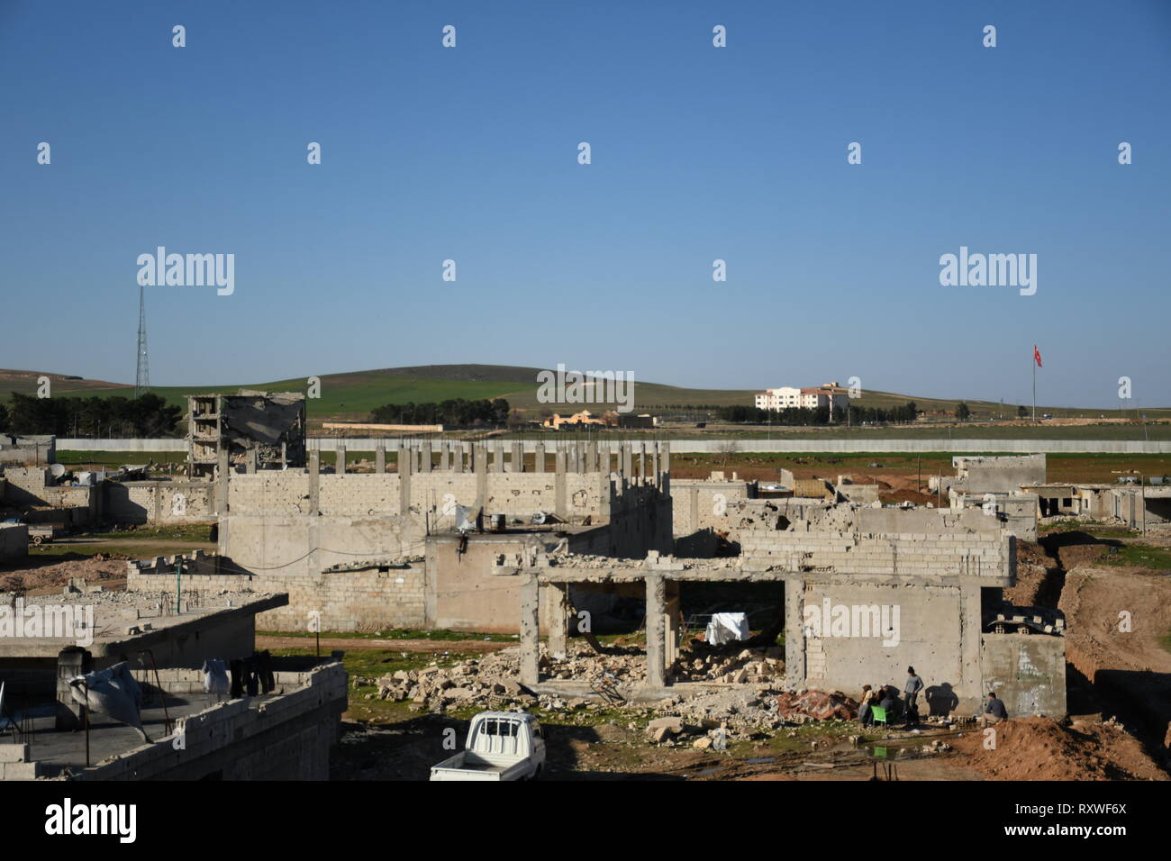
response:
<path id="1" fill-rule="evenodd" d="M 514 408 L 522 410 L 560 409 L 566 412 L 576 405 L 545 405 L 536 401 L 539 368 L 500 364 L 427 364 L 411 368 L 382 368 L 377 370 L 327 374 L 321 377 L 321 398 L 309 401 L 310 419 L 361 421 L 371 410 L 388 403 L 426 403 L 447 398 L 495 398 L 504 397 Z M 9 391 L 32 395 L 36 391 L 36 377 L 41 371 L 0 370 L 0 398 L 7 399 Z M 53 394 L 57 396 L 123 396 L 131 397 L 133 387 L 97 380 L 82 380 L 60 374 L 47 374 L 53 381 Z M 151 391 L 166 397 L 171 403 L 186 409 L 186 397 L 204 392 L 232 394 L 239 389 L 265 391 L 304 391 L 304 378 L 245 382 L 237 385 L 155 387 Z M 635 381 L 635 410 L 637 412 L 662 410 L 667 405 L 715 405 L 752 404 L 755 389 L 689 389 L 662 383 Z M 919 409 L 952 412 L 958 399 L 927 398 L 898 395 L 886 391 L 867 391 L 855 401 L 860 406 L 895 406 L 915 401 Z M 975 418 L 987 418 L 1001 412 L 1001 405 L 989 401 L 967 401 Z M 604 410 L 602 404 L 582 404 L 595 412 Z M 1005 418 L 1014 418 L 1016 404 L 1005 404 Z M 1117 410 L 1071 409 L 1062 406 L 1038 406 L 1038 414 L 1049 412 L 1057 417 L 1118 416 Z M 1171 409 L 1145 409 L 1150 418 L 1171 417 Z M 1134 417 L 1135 411 L 1127 414 Z"/>

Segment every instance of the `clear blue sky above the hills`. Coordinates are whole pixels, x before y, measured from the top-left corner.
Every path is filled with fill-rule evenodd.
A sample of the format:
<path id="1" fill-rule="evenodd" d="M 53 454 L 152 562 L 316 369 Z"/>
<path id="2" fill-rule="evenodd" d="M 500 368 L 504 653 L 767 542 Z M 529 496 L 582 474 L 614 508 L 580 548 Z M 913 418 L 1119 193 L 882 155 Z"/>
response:
<path id="1" fill-rule="evenodd" d="M 1169 81 L 1162 0 L 0 0 L 0 367 L 133 382 L 162 245 L 235 254 L 235 292 L 148 288 L 156 384 L 563 362 L 1016 403 L 1035 342 L 1040 402 L 1166 405 Z M 940 286 L 960 246 L 1035 253 L 1036 294 Z"/>

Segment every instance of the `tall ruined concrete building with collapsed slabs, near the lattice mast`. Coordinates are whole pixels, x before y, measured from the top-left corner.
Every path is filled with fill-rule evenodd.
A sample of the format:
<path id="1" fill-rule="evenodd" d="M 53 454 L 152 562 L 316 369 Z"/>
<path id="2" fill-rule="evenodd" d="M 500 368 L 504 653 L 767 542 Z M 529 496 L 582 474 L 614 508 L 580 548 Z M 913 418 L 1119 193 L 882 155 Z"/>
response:
<path id="1" fill-rule="evenodd" d="M 187 476 L 214 478 L 220 458 L 247 472 L 304 466 L 304 395 L 241 390 L 187 398 Z"/>

